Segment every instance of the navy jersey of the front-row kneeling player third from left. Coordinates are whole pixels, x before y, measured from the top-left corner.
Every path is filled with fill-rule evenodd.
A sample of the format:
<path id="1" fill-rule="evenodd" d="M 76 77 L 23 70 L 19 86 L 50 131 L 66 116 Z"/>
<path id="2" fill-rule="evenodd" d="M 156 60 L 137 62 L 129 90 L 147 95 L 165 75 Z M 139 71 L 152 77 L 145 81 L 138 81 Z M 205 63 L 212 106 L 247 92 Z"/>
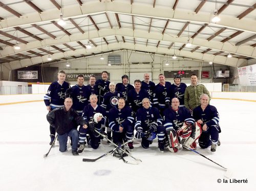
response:
<path id="1" fill-rule="evenodd" d="M 129 106 L 124 106 L 122 109 L 118 109 L 118 106 L 111 108 L 109 112 L 109 125 L 111 130 L 119 131 L 119 126 L 124 128 L 131 126 L 134 123 L 132 112 Z"/>

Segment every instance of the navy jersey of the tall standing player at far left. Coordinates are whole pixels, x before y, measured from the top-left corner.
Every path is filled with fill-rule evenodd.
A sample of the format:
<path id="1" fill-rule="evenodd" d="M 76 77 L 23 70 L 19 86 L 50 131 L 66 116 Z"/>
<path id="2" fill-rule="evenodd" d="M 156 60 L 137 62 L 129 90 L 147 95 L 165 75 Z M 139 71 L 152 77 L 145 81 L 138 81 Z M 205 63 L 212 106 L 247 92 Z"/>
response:
<path id="1" fill-rule="evenodd" d="M 66 81 L 62 85 L 57 81 L 51 83 L 44 97 L 46 106 L 53 109 L 64 106 L 65 92 L 68 88 L 70 88 L 70 85 Z"/>

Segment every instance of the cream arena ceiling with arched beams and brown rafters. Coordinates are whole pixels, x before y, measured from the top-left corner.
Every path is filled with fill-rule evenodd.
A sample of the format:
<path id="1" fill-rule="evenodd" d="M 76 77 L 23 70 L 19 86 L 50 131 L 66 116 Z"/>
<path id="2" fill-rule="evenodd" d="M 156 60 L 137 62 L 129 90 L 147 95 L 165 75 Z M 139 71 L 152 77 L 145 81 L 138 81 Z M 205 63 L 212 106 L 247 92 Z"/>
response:
<path id="1" fill-rule="evenodd" d="M 216 8 L 221 20 L 212 22 Z M 240 66 L 256 58 L 255 8 L 255 0 L 2 0 L 0 63 L 11 70 L 133 50 Z"/>

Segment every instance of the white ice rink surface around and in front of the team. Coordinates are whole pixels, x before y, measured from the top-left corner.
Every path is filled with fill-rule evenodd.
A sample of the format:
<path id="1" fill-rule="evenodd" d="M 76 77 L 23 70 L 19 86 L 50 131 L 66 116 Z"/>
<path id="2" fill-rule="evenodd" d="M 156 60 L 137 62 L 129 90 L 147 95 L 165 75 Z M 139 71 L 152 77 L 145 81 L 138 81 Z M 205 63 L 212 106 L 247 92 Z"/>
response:
<path id="1" fill-rule="evenodd" d="M 50 148 L 44 102 L 0 106 L 0 190 L 256 190 L 256 103 L 212 100 L 211 105 L 220 113 L 221 146 L 215 153 L 199 146 L 197 151 L 228 168 L 230 179 L 220 166 L 194 152 L 160 153 L 157 140 L 149 149 L 135 140 L 132 155 L 142 160 L 138 165 L 112 155 L 82 161 L 112 150 L 105 140 L 97 150 L 87 145 L 79 156 L 71 154 L 69 144 L 60 153 L 56 144 L 44 158 Z M 248 182 L 233 183 L 238 180 Z"/>

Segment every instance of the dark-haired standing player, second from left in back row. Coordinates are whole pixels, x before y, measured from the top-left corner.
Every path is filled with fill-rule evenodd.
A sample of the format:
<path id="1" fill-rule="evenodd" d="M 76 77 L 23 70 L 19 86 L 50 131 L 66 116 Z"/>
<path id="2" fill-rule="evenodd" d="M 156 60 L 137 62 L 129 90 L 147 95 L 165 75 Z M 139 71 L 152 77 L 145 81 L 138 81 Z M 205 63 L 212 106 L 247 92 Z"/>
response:
<path id="1" fill-rule="evenodd" d="M 72 108 L 81 116 L 82 110 L 89 104 L 88 89 L 83 85 L 84 78 L 82 75 L 78 75 L 77 84 L 66 90 L 66 97 L 72 97 L 73 106 Z"/>

